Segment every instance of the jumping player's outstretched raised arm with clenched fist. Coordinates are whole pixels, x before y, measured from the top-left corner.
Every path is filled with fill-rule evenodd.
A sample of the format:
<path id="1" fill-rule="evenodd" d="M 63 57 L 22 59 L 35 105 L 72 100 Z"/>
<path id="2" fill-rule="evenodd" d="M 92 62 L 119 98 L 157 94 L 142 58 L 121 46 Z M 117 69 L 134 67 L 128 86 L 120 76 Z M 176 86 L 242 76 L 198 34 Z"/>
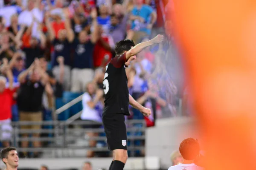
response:
<path id="1" fill-rule="evenodd" d="M 148 46 L 161 43 L 161 42 L 163 42 L 163 40 L 164 40 L 163 35 L 158 34 L 156 37 L 154 37 L 153 39 L 151 39 L 149 41 L 141 42 L 141 43 L 135 45 L 129 51 L 127 51 L 127 53 L 125 55 L 126 60 L 128 60 L 130 57 L 135 56 L 136 54 L 140 53 L 141 51 L 143 51 L 143 49 L 147 48 Z"/>

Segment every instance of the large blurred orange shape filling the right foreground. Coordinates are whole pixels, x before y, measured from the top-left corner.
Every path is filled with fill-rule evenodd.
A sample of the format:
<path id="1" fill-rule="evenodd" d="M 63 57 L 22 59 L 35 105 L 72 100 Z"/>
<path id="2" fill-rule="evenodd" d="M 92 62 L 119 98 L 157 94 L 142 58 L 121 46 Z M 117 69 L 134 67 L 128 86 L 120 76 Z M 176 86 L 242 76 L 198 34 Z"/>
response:
<path id="1" fill-rule="evenodd" d="M 173 0 L 207 170 L 256 170 L 256 0 Z"/>

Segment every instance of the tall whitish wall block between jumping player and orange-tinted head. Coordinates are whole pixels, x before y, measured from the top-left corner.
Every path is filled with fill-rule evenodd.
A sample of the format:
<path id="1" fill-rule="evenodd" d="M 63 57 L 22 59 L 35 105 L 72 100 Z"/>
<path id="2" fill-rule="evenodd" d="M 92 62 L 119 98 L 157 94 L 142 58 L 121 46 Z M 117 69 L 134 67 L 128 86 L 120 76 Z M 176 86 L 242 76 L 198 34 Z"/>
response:
<path id="1" fill-rule="evenodd" d="M 146 129 L 145 137 L 146 158 L 157 157 L 161 168 L 168 169 L 172 165 L 170 155 L 179 149 L 180 142 L 188 137 L 198 138 L 199 133 L 192 118 L 175 117 L 158 119 L 155 127 Z"/>

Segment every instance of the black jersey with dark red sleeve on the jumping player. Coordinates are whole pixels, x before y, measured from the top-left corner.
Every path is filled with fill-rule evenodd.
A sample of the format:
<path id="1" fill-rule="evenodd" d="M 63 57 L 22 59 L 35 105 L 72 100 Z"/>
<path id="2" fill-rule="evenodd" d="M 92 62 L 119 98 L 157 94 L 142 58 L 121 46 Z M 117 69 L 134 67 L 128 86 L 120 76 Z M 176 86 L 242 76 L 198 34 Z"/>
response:
<path id="1" fill-rule="evenodd" d="M 126 57 L 124 53 L 111 59 L 106 66 L 103 80 L 105 93 L 103 114 L 122 113 L 124 115 L 130 115 L 125 62 Z"/>

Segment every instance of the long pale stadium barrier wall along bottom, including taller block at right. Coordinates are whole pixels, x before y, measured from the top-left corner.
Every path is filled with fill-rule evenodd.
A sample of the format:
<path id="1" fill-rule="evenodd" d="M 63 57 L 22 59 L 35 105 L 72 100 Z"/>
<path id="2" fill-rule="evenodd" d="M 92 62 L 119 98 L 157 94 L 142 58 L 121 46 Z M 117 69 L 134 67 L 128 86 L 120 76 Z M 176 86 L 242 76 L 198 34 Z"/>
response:
<path id="1" fill-rule="evenodd" d="M 194 120 L 188 117 L 158 119 L 155 127 L 149 127 L 145 131 L 145 158 L 129 158 L 125 170 L 158 170 L 160 167 L 167 169 L 172 165 L 170 161 L 172 151 L 178 149 L 183 139 L 198 138 L 198 133 L 195 131 Z M 112 158 L 20 159 L 19 168 L 39 169 L 44 164 L 51 170 L 81 169 L 84 161 L 90 161 L 93 170 L 108 169 Z M 3 162 L 0 163 L 0 167 L 4 167 Z"/>

